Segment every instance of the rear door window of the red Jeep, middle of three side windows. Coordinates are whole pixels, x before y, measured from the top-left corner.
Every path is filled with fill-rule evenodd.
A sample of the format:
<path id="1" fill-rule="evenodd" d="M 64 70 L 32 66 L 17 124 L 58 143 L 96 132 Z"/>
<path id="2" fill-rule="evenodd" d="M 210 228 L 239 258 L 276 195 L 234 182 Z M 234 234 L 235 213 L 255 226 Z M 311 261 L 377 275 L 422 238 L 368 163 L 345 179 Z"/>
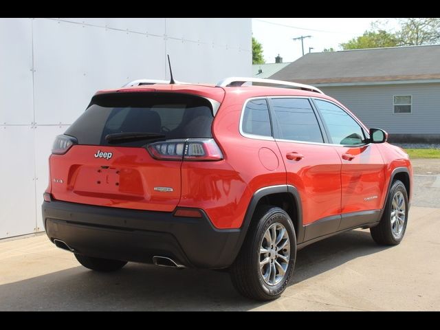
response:
<path id="1" fill-rule="evenodd" d="M 280 138 L 305 142 L 324 142 L 316 115 L 305 98 L 273 98 Z"/>

